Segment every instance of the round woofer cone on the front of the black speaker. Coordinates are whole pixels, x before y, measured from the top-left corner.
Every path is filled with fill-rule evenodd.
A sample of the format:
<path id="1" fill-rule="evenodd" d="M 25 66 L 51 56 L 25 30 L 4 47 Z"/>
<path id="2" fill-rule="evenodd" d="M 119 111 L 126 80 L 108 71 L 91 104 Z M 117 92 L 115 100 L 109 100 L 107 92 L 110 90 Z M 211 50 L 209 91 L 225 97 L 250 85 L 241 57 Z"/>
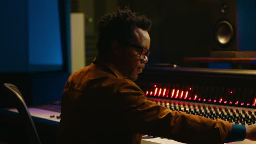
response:
<path id="1" fill-rule="evenodd" d="M 216 27 L 215 35 L 220 45 L 227 45 L 234 37 L 234 29 L 228 21 L 220 21 Z"/>

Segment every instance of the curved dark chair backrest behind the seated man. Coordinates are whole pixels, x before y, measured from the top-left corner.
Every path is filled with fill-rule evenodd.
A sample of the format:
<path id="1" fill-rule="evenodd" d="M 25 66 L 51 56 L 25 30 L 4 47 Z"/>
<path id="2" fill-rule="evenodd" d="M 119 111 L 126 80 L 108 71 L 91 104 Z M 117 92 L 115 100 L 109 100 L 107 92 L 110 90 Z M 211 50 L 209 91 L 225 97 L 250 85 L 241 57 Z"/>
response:
<path id="1" fill-rule="evenodd" d="M 9 92 L 10 97 L 8 99 L 10 100 L 10 103 L 14 103 L 14 106 L 19 111 L 20 116 L 26 125 L 28 140 L 30 141 L 30 143 L 33 144 L 40 144 L 41 142 L 36 127 L 34 126 L 30 111 L 28 111 L 27 105 L 21 95 L 21 92 L 16 86 L 11 83 L 4 83 L 3 86 Z"/>

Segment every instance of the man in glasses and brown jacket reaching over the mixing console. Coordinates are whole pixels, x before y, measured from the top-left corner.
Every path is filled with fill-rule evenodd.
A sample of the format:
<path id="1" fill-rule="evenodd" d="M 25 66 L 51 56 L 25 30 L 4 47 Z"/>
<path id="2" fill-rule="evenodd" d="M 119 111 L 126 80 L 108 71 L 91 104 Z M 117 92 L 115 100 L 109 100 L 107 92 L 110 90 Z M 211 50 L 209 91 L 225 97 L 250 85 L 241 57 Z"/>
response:
<path id="1" fill-rule="evenodd" d="M 147 100 L 133 82 L 148 62 L 146 16 L 119 8 L 98 26 L 98 56 L 72 74 L 63 91 L 59 143 L 141 143 L 142 134 L 197 144 L 256 140 L 255 125 L 188 115 Z"/>

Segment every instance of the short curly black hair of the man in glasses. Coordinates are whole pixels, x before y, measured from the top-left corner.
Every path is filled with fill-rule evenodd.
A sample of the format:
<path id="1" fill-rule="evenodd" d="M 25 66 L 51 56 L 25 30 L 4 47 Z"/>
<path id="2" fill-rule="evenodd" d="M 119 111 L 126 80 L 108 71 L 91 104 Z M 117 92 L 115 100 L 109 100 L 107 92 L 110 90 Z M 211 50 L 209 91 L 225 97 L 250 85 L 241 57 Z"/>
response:
<path id="1" fill-rule="evenodd" d="M 146 15 L 133 12 L 129 6 L 118 8 L 115 13 L 103 15 L 98 20 L 97 49 L 101 55 L 110 52 L 110 45 L 117 40 L 122 45 L 130 44 L 135 38 L 135 27 L 149 31 L 152 22 Z"/>

